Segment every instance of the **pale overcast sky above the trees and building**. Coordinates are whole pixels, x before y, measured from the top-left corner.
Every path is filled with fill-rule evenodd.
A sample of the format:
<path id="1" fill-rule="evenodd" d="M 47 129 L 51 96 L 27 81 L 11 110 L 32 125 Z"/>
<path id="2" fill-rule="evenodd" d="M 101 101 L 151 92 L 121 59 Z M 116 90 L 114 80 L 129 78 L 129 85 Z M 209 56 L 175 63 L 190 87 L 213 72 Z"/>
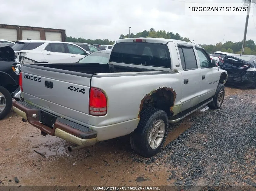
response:
<path id="1" fill-rule="evenodd" d="M 182 2 L 181 2 L 182 1 Z M 66 35 L 117 40 L 120 34 L 143 30 L 172 31 L 197 44 L 241 41 L 244 16 L 188 16 L 185 1 L 222 0 L 0 0 L 0 23 L 66 29 Z M 241 3 L 241 0 L 225 0 Z M 256 42 L 256 14 L 250 15 L 247 40 Z M 254 18 L 254 21 L 253 21 Z"/>

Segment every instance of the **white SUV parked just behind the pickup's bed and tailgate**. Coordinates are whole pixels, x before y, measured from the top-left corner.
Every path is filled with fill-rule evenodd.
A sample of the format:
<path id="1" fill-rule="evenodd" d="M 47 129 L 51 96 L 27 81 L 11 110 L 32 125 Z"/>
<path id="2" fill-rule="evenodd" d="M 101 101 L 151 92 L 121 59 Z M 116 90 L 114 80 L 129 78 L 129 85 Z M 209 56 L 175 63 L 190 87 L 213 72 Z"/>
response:
<path id="1" fill-rule="evenodd" d="M 73 43 L 49 40 L 18 40 L 12 48 L 21 64 L 77 62 L 89 54 Z"/>

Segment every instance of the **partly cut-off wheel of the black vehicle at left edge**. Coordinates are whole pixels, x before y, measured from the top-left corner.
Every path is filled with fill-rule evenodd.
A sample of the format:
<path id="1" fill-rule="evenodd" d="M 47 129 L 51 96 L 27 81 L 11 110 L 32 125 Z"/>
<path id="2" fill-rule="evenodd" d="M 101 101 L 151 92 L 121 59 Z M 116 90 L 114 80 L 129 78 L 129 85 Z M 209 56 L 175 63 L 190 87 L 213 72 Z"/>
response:
<path id="1" fill-rule="evenodd" d="M 12 96 L 7 89 L 0 86 L 0 120 L 12 109 Z"/>

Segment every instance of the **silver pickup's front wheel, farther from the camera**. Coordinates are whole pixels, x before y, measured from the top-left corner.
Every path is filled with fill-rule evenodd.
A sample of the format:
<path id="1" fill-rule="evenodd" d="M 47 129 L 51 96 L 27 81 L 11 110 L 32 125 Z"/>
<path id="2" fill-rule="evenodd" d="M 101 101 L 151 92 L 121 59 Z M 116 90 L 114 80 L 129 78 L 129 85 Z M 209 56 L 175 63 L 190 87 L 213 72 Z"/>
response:
<path id="1" fill-rule="evenodd" d="M 218 84 L 217 90 L 213 97 L 213 101 L 208 103 L 208 107 L 211 109 L 220 109 L 225 97 L 225 87 L 223 84 Z"/>

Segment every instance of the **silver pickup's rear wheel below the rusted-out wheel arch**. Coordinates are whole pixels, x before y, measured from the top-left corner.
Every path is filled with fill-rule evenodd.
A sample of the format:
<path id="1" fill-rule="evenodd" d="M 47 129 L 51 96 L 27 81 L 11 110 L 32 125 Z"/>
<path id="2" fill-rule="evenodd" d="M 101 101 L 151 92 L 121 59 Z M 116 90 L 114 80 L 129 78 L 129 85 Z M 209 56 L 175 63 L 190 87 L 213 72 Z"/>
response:
<path id="1" fill-rule="evenodd" d="M 131 133 L 131 148 L 135 153 L 150 158 L 159 153 L 168 134 L 165 111 L 149 107 L 141 112 L 138 127 Z"/>

